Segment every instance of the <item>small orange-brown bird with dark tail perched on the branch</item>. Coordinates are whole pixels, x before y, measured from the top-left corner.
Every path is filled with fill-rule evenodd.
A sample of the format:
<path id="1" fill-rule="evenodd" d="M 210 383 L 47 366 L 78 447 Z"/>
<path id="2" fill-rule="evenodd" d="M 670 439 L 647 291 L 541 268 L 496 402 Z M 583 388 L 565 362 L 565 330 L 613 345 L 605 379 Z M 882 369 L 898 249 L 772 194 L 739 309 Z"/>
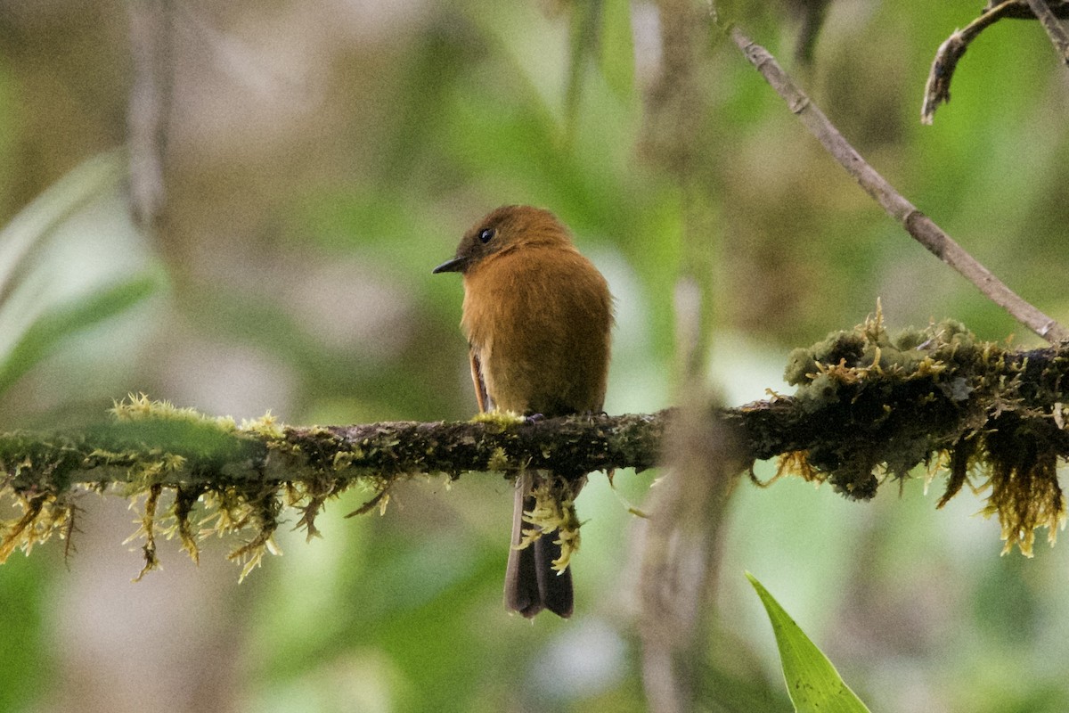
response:
<path id="1" fill-rule="evenodd" d="M 613 295 L 553 213 L 498 207 L 464 233 L 455 257 L 432 272 L 463 277 L 461 328 L 480 412 L 536 420 L 602 413 Z M 586 475 L 574 475 L 577 494 Z M 574 593 L 571 568 L 554 569 L 560 542 L 552 534 L 530 541 L 538 528 L 524 518 L 536 505 L 533 489 L 548 477 L 524 469 L 516 478 L 505 603 L 526 618 L 548 609 L 567 619 Z"/>

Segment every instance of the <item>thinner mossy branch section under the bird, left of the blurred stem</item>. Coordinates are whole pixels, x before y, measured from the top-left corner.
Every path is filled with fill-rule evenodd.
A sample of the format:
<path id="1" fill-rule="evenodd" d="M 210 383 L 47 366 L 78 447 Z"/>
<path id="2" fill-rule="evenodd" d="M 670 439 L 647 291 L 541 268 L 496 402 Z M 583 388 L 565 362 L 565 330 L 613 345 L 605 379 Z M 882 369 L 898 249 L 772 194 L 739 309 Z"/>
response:
<path id="1" fill-rule="evenodd" d="M 663 428 L 660 415 L 329 428 L 283 427 L 268 415 L 236 424 L 143 396 L 115 404 L 112 414 L 81 433 L 0 434 L 0 500 L 16 509 L 0 521 L 0 562 L 15 549 L 68 537 L 76 495 L 112 487 L 143 498 L 129 540 L 143 541 L 138 578 L 159 565 L 159 537 L 177 539 L 197 560 L 199 541 L 213 534 L 244 538 L 230 554 L 244 577 L 277 552 L 274 533 L 288 508 L 312 538 L 327 500 L 353 486 L 370 494 L 361 512 L 384 508 L 398 478 L 420 474 L 650 467 Z"/>

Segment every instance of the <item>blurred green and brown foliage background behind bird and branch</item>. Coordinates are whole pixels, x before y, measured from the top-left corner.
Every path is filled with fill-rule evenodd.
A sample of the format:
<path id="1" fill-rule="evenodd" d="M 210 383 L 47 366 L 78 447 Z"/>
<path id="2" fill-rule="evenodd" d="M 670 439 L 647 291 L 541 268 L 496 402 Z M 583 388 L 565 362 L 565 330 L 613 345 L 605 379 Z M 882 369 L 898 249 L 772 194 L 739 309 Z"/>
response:
<path id="1" fill-rule="evenodd" d="M 837 0 L 808 64 L 806 4 L 733 17 L 907 198 L 1069 321 L 1069 75 L 1038 24 L 988 30 L 921 126 L 935 48 L 979 3 Z M 294 424 L 466 419 L 462 289 L 430 270 L 514 202 L 557 213 L 611 285 L 610 414 L 677 403 L 688 369 L 729 405 L 787 391 L 791 347 L 878 298 L 892 328 L 1040 343 L 886 217 L 701 7 L 0 0 L 0 429 L 78 428 L 139 391 Z M 0 710 L 647 710 L 628 507 L 656 475 L 591 477 L 570 621 L 505 613 L 496 476 L 415 480 L 385 516 L 343 520 L 346 494 L 323 539 L 282 533 L 242 585 L 227 542 L 200 567 L 161 543 L 164 570 L 130 583 L 137 513 L 86 494 L 76 552 L 0 567 Z M 941 482 L 868 503 L 743 483 L 700 708 L 790 710 L 748 570 L 873 710 L 1069 710 L 1069 545 L 1000 557 L 980 499 L 935 511 Z"/>

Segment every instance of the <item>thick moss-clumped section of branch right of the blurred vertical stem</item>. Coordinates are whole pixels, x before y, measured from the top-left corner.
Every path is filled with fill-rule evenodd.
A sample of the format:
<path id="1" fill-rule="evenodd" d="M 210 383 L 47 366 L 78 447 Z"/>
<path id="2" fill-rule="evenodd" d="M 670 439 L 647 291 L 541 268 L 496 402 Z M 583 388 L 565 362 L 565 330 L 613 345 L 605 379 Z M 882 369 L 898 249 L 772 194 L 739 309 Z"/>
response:
<path id="1" fill-rule="evenodd" d="M 795 350 L 776 397 L 728 415 L 755 458 L 827 480 L 868 499 L 917 466 L 947 469 L 942 507 L 964 484 L 987 493 L 1006 549 L 1032 554 L 1035 530 L 1053 543 L 1066 522 L 1056 465 L 1069 455 L 1066 345 L 1014 352 L 979 341 L 960 323 L 890 335 L 878 313 L 852 330 Z"/>

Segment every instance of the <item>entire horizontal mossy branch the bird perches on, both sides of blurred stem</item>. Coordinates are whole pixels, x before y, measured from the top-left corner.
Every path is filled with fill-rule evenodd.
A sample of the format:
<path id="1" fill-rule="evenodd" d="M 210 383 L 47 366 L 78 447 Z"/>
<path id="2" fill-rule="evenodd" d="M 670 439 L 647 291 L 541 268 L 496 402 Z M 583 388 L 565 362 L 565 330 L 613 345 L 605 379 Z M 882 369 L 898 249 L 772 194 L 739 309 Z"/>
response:
<path id="1" fill-rule="evenodd" d="M 1053 542 L 1065 523 L 1056 466 L 1069 456 L 1069 346 L 1012 351 L 980 342 L 955 322 L 889 335 L 879 313 L 852 330 L 795 350 L 793 396 L 718 410 L 734 431 L 740 463 L 779 456 L 780 474 L 827 480 L 868 499 L 888 480 L 942 470 L 942 507 L 965 484 L 985 493 L 1006 549 L 1028 555 L 1038 527 Z M 176 538 L 193 558 L 208 534 L 243 533 L 230 557 L 243 576 L 265 552 L 286 509 L 308 537 L 324 503 L 359 485 L 385 508 L 399 478 L 469 471 L 564 476 L 649 468 L 662 461 L 673 410 L 468 422 L 284 427 L 270 416 L 241 425 L 144 397 L 80 433 L 0 435 L 0 498 L 19 512 L 0 522 L 0 561 L 53 534 L 69 537 L 84 490 L 111 486 L 144 498 L 145 571 L 156 538 Z M 199 520 L 195 521 L 195 517 Z"/>

